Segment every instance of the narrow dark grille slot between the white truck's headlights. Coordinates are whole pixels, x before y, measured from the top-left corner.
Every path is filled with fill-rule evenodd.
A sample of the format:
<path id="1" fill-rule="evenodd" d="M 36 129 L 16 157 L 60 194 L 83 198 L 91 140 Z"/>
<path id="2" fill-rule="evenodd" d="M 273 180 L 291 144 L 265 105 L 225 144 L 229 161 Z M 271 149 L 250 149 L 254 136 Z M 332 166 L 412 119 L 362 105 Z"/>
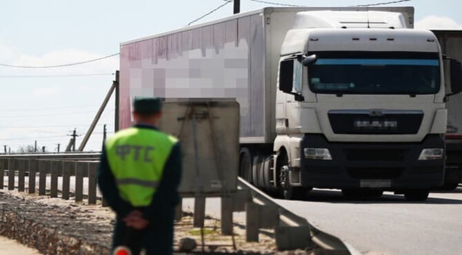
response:
<path id="1" fill-rule="evenodd" d="M 345 150 L 348 161 L 403 161 L 404 150 L 349 149 Z"/>

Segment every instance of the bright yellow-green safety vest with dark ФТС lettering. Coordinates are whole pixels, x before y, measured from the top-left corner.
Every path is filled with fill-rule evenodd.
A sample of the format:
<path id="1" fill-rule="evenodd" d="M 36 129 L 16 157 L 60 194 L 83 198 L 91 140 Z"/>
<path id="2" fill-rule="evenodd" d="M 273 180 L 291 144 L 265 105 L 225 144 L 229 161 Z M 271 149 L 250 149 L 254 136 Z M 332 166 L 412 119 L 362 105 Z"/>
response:
<path id="1" fill-rule="evenodd" d="M 159 187 L 177 139 L 150 128 L 121 130 L 106 141 L 106 154 L 121 198 L 147 206 Z"/>

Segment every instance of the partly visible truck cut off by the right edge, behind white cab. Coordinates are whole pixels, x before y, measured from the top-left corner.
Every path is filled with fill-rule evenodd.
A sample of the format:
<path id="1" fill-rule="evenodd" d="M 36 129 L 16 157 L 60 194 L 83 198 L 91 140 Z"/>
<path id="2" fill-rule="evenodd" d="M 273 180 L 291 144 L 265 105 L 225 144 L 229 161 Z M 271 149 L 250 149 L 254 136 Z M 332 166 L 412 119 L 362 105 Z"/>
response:
<path id="1" fill-rule="evenodd" d="M 462 30 L 432 30 L 441 45 L 441 52 L 462 61 Z M 448 68 L 446 68 L 448 69 Z M 448 97 L 448 127 L 446 142 L 446 172 L 443 188 L 454 190 L 462 183 L 462 94 Z"/>

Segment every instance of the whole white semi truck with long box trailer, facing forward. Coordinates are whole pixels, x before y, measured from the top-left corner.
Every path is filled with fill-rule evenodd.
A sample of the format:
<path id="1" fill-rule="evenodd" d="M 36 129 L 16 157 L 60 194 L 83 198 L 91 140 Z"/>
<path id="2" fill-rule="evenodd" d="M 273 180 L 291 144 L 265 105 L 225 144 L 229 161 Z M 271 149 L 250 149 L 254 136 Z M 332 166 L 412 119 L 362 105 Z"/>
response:
<path id="1" fill-rule="evenodd" d="M 413 24 L 412 7 L 263 8 L 126 41 L 119 127 L 133 96 L 236 99 L 239 174 L 262 190 L 423 201 L 462 71 Z"/>

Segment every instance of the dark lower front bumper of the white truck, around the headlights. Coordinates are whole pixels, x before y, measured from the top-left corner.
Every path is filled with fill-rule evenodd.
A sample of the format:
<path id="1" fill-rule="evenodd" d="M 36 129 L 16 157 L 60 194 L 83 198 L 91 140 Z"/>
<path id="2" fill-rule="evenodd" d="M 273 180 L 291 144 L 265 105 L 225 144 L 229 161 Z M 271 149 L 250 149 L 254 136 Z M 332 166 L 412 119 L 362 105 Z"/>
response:
<path id="1" fill-rule="evenodd" d="M 444 159 L 418 160 L 423 149 L 445 148 L 438 134 L 421 143 L 332 143 L 322 134 L 305 134 L 300 147 L 305 187 L 400 190 L 443 185 Z M 327 148 L 332 160 L 305 159 L 308 147 Z"/>

